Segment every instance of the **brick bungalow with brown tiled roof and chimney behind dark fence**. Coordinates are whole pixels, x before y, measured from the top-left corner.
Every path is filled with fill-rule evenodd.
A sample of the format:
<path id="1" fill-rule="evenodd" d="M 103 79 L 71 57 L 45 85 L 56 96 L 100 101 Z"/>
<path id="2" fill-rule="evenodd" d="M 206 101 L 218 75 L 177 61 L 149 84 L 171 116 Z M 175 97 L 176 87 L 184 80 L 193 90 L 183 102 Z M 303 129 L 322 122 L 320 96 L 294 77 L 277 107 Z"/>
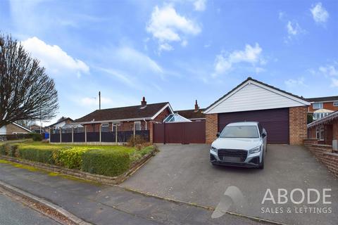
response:
<path id="1" fill-rule="evenodd" d="M 143 97 L 141 105 L 95 110 L 74 121 L 81 124 L 86 132 L 142 131 L 149 130 L 149 141 L 153 141 L 153 124 L 162 123 L 173 113 L 170 103 L 147 104 Z"/>

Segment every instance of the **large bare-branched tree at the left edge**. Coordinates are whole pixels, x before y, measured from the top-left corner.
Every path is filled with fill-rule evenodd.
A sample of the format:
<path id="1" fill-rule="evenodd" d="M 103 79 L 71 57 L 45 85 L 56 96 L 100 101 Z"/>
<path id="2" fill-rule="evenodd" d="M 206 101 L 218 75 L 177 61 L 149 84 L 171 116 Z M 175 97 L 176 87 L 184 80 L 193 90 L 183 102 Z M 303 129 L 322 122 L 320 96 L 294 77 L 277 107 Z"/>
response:
<path id="1" fill-rule="evenodd" d="M 0 127 L 18 120 L 50 120 L 58 110 L 54 80 L 10 35 L 0 34 Z"/>

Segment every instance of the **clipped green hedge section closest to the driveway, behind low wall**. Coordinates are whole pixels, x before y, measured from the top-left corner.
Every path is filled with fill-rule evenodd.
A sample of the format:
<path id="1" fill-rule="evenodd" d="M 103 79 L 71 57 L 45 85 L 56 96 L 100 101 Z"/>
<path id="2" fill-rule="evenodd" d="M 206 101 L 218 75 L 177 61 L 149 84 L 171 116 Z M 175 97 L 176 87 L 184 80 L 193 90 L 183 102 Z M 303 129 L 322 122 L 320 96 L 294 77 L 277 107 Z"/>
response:
<path id="1" fill-rule="evenodd" d="M 82 154 L 82 171 L 118 176 L 130 167 L 129 154 L 122 150 L 89 150 Z"/>

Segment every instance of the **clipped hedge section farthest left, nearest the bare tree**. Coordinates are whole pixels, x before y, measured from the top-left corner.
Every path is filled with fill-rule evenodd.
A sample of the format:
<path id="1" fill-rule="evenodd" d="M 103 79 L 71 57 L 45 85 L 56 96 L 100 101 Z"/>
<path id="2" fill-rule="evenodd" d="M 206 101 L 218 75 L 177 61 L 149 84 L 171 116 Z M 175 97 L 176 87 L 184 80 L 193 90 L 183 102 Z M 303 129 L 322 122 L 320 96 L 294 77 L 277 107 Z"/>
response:
<path id="1" fill-rule="evenodd" d="M 18 157 L 35 162 L 55 164 L 54 155 L 58 146 L 18 146 Z"/>

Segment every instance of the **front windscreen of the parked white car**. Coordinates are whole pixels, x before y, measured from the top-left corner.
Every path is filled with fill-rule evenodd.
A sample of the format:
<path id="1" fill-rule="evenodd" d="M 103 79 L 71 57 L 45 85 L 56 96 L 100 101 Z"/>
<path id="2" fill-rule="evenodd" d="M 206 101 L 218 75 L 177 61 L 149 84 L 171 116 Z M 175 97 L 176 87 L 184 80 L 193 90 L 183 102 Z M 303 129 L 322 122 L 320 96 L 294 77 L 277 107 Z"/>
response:
<path id="1" fill-rule="evenodd" d="M 225 127 L 220 138 L 257 139 L 259 137 L 256 126 L 229 126 Z"/>

